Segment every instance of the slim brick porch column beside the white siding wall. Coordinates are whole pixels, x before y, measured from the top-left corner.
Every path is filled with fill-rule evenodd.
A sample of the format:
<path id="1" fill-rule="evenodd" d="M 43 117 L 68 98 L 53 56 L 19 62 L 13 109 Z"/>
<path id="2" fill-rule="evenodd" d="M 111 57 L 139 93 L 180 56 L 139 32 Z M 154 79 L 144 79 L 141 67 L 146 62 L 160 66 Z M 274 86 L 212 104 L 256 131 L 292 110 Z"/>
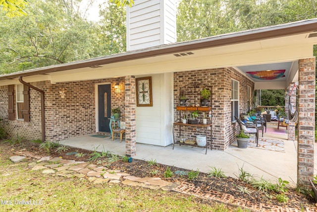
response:
<path id="1" fill-rule="evenodd" d="M 124 103 L 125 103 L 125 154 L 132 157 L 136 155 L 135 117 L 136 117 L 136 91 L 135 77 L 124 77 Z"/>

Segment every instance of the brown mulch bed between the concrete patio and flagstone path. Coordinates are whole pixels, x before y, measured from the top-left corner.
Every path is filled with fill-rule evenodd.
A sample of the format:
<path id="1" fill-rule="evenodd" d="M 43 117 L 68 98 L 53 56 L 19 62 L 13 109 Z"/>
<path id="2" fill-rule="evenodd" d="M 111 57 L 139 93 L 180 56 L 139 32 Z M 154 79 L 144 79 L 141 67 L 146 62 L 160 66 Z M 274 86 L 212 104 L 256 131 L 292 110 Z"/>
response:
<path id="1" fill-rule="evenodd" d="M 36 155 L 42 155 L 47 156 L 47 152 L 45 152 L 43 149 L 39 149 L 39 144 L 30 142 L 30 141 L 23 141 L 18 144 L 11 145 L 7 142 L 0 142 L 0 145 L 7 149 L 7 158 L 14 155 L 14 152 L 16 151 L 31 151 L 32 153 Z M 63 159 L 68 160 L 76 160 L 76 161 L 89 161 L 90 154 L 93 153 L 93 151 L 79 149 L 79 148 L 70 148 L 66 152 L 54 152 L 52 151 L 51 156 L 52 157 L 62 157 Z M 67 155 L 67 152 L 81 152 L 85 155 L 82 157 L 75 157 L 75 154 Z M 103 159 L 102 159 L 103 160 Z M 268 192 L 264 193 L 261 191 L 258 191 L 257 189 L 254 189 L 249 183 L 240 181 L 235 178 L 226 177 L 226 178 L 214 178 L 209 177 L 206 173 L 199 173 L 198 179 L 189 180 L 187 175 L 184 175 L 184 172 L 188 172 L 190 170 L 181 169 L 173 166 L 169 166 L 170 170 L 174 173 L 172 177 L 165 178 L 164 172 L 167 165 L 152 165 L 150 166 L 147 161 L 144 160 L 138 160 L 134 159 L 131 163 L 123 162 L 121 159 L 110 163 L 105 164 L 106 162 L 100 162 L 100 161 L 90 161 L 91 163 L 95 163 L 97 165 L 108 165 L 111 169 L 118 169 L 125 171 L 129 173 L 130 175 L 137 176 L 137 177 L 160 177 L 163 180 L 170 181 L 170 182 L 188 182 L 195 184 L 195 186 L 201 187 L 202 190 L 205 191 L 218 191 L 226 194 L 230 194 L 237 198 L 243 198 L 250 202 L 255 203 L 262 203 L 262 204 L 272 204 L 282 207 L 289 207 L 289 208 L 296 208 L 299 211 L 301 211 L 303 208 L 306 207 L 312 207 L 315 206 L 314 199 L 312 196 L 306 196 L 302 193 L 296 192 L 294 189 L 289 189 L 288 192 L 285 194 L 289 198 L 287 203 L 279 203 L 275 195 L 277 193 L 275 192 Z M 157 170 L 157 174 L 153 175 L 153 170 Z M 175 172 L 178 171 L 179 174 L 175 174 Z M 183 171 L 183 172 L 182 172 Z M 239 191 L 239 186 L 243 188 L 248 188 L 249 191 L 251 191 L 250 194 L 242 194 Z"/>

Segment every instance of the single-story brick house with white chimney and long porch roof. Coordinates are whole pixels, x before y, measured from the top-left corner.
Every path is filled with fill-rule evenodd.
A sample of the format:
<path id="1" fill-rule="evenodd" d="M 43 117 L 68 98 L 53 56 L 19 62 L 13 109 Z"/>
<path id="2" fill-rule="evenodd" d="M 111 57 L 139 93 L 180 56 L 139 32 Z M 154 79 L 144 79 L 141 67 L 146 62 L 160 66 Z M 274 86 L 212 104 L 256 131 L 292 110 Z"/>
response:
<path id="1" fill-rule="evenodd" d="M 128 8 L 126 53 L 0 75 L 0 118 L 9 136 L 60 141 L 107 133 L 110 109 L 119 107 L 133 156 L 136 142 L 172 143 L 179 87 L 203 82 L 212 87 L 208 142 L 225 151 L 237 132 L 232 117 L 248 110 L 255 89 L 289 89 L 298 81 L 298 180 L 307 182 L 314 172 L 317 19 L 175 43 L 175 5 L 145 3 Z M 247 73 L 264 70 L 285 70 L 285 77 Z M 149 76 L 153 105 L 137 107 L 136 79 Z M 290 124 L 291 137 L 294 129 Z"/>

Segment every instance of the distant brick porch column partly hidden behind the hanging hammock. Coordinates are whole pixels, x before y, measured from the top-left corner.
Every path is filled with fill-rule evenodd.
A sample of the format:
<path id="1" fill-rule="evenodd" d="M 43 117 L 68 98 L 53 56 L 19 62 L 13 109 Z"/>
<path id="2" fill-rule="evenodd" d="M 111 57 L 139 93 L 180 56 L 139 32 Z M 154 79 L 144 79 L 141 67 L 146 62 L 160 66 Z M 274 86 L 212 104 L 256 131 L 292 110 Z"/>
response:
<path id="1" fill-rule="evenodd" d="M 296 87 L 294 87 L 295 83 L 291 83 L 289 85 L 289 95 L 290 95 L 290 101 L 288 102 L 287 98 L 287 104 L 285 104 L 285 112 L 288 112 L 289 104 L 292 105 L 293 110 L 296 108 Z M 286 103 L 286 101 L 285 101 Z M 288 121 L 288 140 L 289 141 L 295 141 L 295 122 Z"/>

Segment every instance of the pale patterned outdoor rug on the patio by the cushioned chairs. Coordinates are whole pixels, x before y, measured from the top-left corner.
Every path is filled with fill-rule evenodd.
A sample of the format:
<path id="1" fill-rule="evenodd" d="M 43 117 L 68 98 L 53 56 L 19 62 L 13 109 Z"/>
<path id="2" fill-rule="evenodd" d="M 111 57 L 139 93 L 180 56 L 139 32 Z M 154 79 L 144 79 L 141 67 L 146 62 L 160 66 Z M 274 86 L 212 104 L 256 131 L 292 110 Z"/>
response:
<path id="1" fill-rule="evenodd" d="M 248 142 L 248 147 L 257 148 L 257 149 L 264 149 L 264 150 L 271 150 L 271 151 L 278 151 L 278 152 L 285 152 L 283 141 L 259 137 L 259 145 L 257 147 L 257 143 L 256 143 L 255 139 L 256 139 L 255 136 L 250 138 L 250 141 Z M 237 141 L 234 141 L 233 143 L 235 145 L 237 145 Z"/>

